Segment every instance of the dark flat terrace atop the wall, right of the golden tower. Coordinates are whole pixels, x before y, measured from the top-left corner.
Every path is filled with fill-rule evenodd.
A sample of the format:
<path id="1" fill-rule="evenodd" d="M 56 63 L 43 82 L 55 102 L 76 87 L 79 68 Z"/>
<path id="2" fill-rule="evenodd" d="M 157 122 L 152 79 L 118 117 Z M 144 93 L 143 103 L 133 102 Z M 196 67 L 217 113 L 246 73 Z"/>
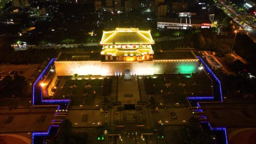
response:
<path id="1" fill-rule="evenodd" d="M 155 60 L 161 59 L 197 59 L 192 50 L 173 50 L 168 52 L 155 52 Z"/>

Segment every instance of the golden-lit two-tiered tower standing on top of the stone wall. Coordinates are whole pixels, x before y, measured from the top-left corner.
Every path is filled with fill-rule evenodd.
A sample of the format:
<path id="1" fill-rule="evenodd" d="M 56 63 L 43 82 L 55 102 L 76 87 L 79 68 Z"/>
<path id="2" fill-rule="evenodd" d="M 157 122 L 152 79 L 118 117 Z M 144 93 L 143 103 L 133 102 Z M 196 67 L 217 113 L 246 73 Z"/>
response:
<path id="1" fill-rule="evenodd" d="M 101 55 L 103 61 L 153 61 L 154 40 L 150 31 L 138 28 L 116 28 L 103 31 Z"/>

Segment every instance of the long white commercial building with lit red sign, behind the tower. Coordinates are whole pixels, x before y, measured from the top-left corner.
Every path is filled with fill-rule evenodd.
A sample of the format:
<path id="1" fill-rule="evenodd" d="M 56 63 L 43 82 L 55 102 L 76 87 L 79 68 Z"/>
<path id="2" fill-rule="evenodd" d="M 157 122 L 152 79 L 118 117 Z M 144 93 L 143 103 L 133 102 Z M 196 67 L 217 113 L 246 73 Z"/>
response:
<path id="1" fill-rule="evenodd" d="M 157 28 L 164 29 L 187 29 L 187 28 L 210 28 L 210 19 L 196 18 L 158 18 Z"/>

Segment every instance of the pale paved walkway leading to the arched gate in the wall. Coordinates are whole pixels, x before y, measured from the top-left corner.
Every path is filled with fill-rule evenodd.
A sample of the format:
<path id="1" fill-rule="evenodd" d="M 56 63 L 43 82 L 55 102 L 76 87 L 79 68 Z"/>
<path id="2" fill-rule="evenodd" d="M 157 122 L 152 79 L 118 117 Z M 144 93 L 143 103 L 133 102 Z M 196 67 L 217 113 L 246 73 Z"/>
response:
<path id="1" fill-rule="evenodd" d="M 130 96 L 129 96 L 130 95 Z M 140 100 L 137 78 L 125 75 L 118 78 L 118 101 L 122 104 L 135 104 Z"/>

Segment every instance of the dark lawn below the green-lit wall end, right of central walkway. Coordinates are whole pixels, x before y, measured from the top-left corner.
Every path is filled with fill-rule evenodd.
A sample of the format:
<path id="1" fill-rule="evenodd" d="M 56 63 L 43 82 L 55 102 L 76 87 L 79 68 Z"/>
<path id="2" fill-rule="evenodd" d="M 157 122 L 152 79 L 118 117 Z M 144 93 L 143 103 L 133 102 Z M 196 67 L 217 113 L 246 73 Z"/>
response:
<path id="1" fill-rule="evenodd" d="M 155 94 L 161 95 L 163 101 L 167 103 L 186 103 L 187 96 L 210 96 L 212 95 L 212 82 L 204 72 L 200 71 L 190 77 L 190 74 L 165 74 L 156 75 L 157 78 L 152 79 L 155 85 Z M 164 77 L 166 80 L 164 81 Z M 171 86 L 166 88 L 165 84 L 170 83 Z M 179 86 L 180 83 L 185 86 Z M 161 93 L 161 90 L 163 92 Z M 168 93 L 171 94 L 168 94 Z M 186 92 L 186 93 L 185 93 Z M 193 93 L 193 95 L 192 95 Z"/>

